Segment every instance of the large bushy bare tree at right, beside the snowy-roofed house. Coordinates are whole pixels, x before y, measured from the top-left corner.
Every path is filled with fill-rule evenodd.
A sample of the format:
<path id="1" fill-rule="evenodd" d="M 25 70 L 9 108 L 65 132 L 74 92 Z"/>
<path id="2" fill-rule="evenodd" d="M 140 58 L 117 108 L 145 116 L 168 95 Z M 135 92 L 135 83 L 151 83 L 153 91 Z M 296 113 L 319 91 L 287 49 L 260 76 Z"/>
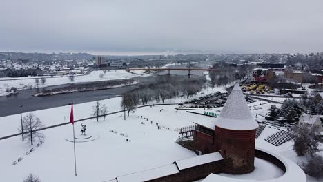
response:
<path id="1" fill-rule="evenodd" d="M 304 156 L 304 154 L 315 154 L 320 152 L 320 141 L 317 134 L 316 127 L 297 126 L 292 128 L 292 137 L 294 140 L 293 150 L 298 156 Z"/>

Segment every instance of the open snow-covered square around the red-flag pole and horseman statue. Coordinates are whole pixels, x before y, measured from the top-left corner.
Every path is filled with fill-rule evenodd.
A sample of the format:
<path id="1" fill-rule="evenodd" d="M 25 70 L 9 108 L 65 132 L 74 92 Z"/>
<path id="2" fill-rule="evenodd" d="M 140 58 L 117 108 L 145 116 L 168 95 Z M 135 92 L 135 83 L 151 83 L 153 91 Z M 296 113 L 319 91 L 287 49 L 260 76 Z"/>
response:
<path id="1" fill-rule="evenodd" d="M 75 119 L 88 109 L 80 105 L 74 107 Z M 66 141 L 72 139 L 72 125 L 43 131 L 46 136 L 45 143 L 39 148 L 35 147 L 35 151 L 29 155 L 25 155 L 25 152 L 31 147 L 29 143 L 23 143 L 20 136 L 0 141 L 0 171 L 6 171 L 1 175 L 2 179 L 21 181 L 32 172 L 43 181 L 104 181 L 195 156 L 193 152 L 174 143 L 179 134 L 174 132 L 173 128 L 192 125 L 196 120 L 208 121 L 211 118 L 187 114 L 174 108 L 175 105 L 141 108 L 130 114 L 126 121 L 120 114 L 113 114 L 107 117 L 106 121 L 101 119 L 99 122 L 82 122 L 87 125 L 89 135 L 100 137 L 88 143 L 77 143 L 77 177 L 73 176 L 72 143 Z M 161 109 L 163 110 L 160 111 Z M 54 122 L 55 115 L 68 115 L 69 112 L 69 107 L 60 107 L 59 110 L 52 108 L 44 111 L 42 116 L 39 111 L 39 117 L 43 121 L 47 120 L 49 124 Z M 148 121 L 144 118 L 148 118 Z M 160 130 L 157 129 L 156 123 L 161 125 Z M 7 125 L 17 128 L 17 123 Z M 79 134 L 81 123 L 76 123 L 75 127 Z M 110 130 L 116 130 L 117 133 Z M 1 134 L 3 131 L 4 129 Z M 120 133 L 127 134 L 128 138 Z M 126 139 L 130 139 L 131 142 L 127 143 Z M 12 165 L 19 156 L 23 156 L 23 161 Z M 53 178 L 53 174 L 59 175 Z"/>

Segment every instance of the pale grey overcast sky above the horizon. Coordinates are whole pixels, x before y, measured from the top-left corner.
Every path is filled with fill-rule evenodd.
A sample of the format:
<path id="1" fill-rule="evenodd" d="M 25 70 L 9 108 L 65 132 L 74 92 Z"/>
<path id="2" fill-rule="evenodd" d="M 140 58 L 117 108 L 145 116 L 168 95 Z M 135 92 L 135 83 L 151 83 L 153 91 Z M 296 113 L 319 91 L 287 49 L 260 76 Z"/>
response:
<path id="1" fill-rule="evenodd" d="M 0 51 L 321 52 L 322 0 L 1 0 Z"/>

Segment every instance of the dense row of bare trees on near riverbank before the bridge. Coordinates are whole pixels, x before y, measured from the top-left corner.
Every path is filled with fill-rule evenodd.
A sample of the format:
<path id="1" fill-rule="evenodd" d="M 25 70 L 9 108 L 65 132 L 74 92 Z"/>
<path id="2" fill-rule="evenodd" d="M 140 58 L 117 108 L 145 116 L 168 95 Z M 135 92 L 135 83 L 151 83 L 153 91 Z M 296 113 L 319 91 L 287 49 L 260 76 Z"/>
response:
<path id="1" fill-rule="evenodd" d="M 177 97 L 192 97 L 202 89 L 204 83 L 206 83 L 204 78 L 179 81 L 177 77 L 159 76 L 153 84 L 141 85 L 135 90 L 124 93 L 121 106 L 128 111 L 129 115 L 135 106 L 144 105 L 150 101 L 164 103 L 168 99 Z"/>

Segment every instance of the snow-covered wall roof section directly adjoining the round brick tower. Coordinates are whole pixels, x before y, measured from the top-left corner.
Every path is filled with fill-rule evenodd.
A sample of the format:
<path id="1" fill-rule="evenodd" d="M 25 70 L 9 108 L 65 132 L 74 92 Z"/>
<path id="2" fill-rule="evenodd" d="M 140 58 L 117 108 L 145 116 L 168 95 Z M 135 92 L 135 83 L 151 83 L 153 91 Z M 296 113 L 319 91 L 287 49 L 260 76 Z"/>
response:
<path id="1" fill-rule="evenodd" d="M 189 159 L 183 159 L 180 161 L 176 161 L 177 167 L 179 170 L 184 170 L 186 168 L 192 168 L 197 165 L 202 165 L 206 163 L 212 163 L 215 161 L 222 160 L 223 157 L 219 152 L 214 152 L 211 154 L 205 154 L 201 156 L 195 156 Z"/>

